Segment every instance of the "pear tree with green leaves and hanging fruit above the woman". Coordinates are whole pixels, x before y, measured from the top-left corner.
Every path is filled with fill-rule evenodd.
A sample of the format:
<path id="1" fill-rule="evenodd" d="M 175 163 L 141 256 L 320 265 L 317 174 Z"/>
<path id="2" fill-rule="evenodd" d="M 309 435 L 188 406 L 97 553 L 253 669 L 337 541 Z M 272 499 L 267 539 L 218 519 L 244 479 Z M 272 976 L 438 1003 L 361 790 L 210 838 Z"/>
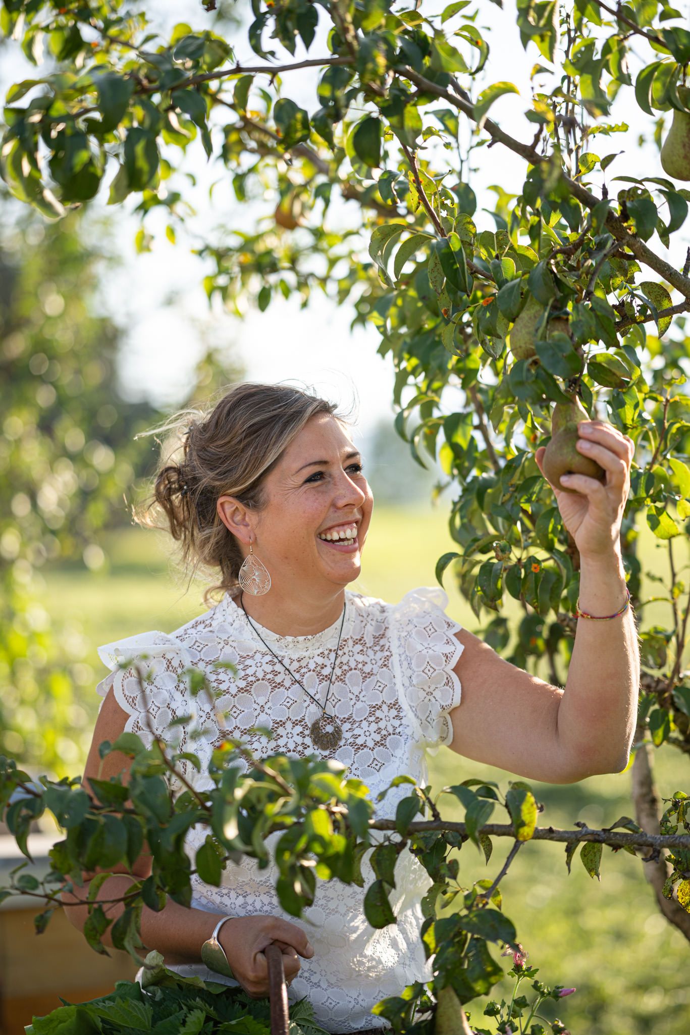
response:
<path id="1" fill-rule="evenodd" d="M 0 175 L 47 219 L 95 198 L 126 206 L 140 249 L 154 213 L 177 246 L 193 226 L 188 151 L 201 149 L 243 212 L 265 204 L 268 218 L 194 248 L 209 299 L 241 314 L 276 298 L 307 305 L 318 290 L 376 328 L 395 431 L 411 463 L 443 471 L 434 495 L 456 546 L 437 578 L 456 581 L 486 642 L 554 684 L 572 652 L 579 558 L 535 451 L 556 454 L 556 483 L 573 464 L 579 408 L 632 438 L 621 548 L 642 678 L 635 819 L 624 819 L 631 836 L 672 836 L 686 796 L 659 816 L 653 752 L 690 752 L 690 31 L 665 0 L 506 5 L 532 85 L 520 134 L 497 114 L 518 88 L 489 75 L 487 7 L 189 0 L 188 21 L 162 31 L 143 0 L 2 0 L 0 31 L 34 70 L 7 91 Z M 308 99 L 298 71 L 312 77 Z M 621 153 L 622 109 L 644 175 Z M 521 172 L 500 183 L 492 162 L 494 197 L 480 208 L 473 170 L 489 148 Z M 640 529 L 663 550 L 663 573 Z M 666 611 L 650 625 L 653 596 Z M 513 791 L 527 808 L 528 790 Z M 479 837 L 483 807 L 462 794 Z M 598 871 L 600 850 L 581 853 Z M 665 844 L 644 865 L 688 939 L 689 870 L 687 849 Z"/>

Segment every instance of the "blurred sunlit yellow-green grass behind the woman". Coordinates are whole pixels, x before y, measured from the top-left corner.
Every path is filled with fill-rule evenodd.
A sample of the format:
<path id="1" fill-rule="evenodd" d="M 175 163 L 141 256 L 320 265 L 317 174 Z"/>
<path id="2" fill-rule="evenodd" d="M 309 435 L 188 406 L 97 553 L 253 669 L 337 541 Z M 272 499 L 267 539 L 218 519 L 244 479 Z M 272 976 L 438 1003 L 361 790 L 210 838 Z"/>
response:
<path id="1" fill-rule="evenodd" d="M 687 549 L 685 542 L 682 545 Z M 205 610 L 202 588 L 192 586 L 187 593 L 184 582 L 174 578 L 164 537 L 131 529 L 108 536 L 103 546 L 109 564 L 100 573 L 69 566 L 47 573 L 46 605 L 56 620 L 81 626 L 91 645 L 94 681 L 106 674 L 95 653 L 97 645 L 147 629 L 172 631 Z M 415 512 L 377 508 L 363 574 L 353 588 L 398 600 L 416 586 L 433 586 L 436 561 L 452 549 L 445 505 Z M 665 578 L 667 548 L 648 529 L 641 532 L 641 550 L 646 567 Z M 680 567 L 685 553 L 677 549 L 676 554 Z M 452 580 L 447 582 L 449 614 L 477 630 L 479 623 L 469 605 L 452 587 Z M 652 584 L 647 589 L 658 591 Z M 513 604 L 510 601 L 507 609 L 509 617 L 517 614 L 511 610 Z M 667 621 L 667 604 L 657 602 L 644 610 L 641 625 Z M 97 700 L 93 694 L 85 702 L 92 715 Z M 665 747 L 655 758 L 662 795 L 689 789 L 687 762 L 680 752 Z M 442 748 L 431 760 L 429 781 L 440 790 L 480 776 L 497 780 L 505 791 L 511 775 Z M 630 815 L 629 782 L 629 773 L 565 787 L 533 782 L 544 805 L 540 825 L 572 828 L 575 820 L 591 826 L 610 825 L 620 816 Z M 460 818 L 453 801 L 451 796 L 442 798 L 442 811 L 448 819 Z M 509 849 L 507 839 L 494 838 L 493 856 L 485 865 L 483 855 L 472 844 L 466 845 L 459 857 L 462 884 L 492 879 Z M 505 912 L 530 952 L 530 963 L 539 967 L 539 977 L 548 984 L 577 988 L 558 1008 L 573 1035 L 687 1035 L 690 1028 L 688 945 L 660 916 L 642 867 L 639 859 L 605 849 L 601 882 L 590 878 L 577 855 L 569 876 L 563 846 L 535 842 L 520 850 L 502 883 Z M 497 988 L 497 997 L 502 994 L 510 998 L 507 981 Z M 553 1005 L 544 1005 L 542 1013 L 554 1016 Z M 488 1018 L 475 1015 L 473 1019 L 490 1027 Z"/>

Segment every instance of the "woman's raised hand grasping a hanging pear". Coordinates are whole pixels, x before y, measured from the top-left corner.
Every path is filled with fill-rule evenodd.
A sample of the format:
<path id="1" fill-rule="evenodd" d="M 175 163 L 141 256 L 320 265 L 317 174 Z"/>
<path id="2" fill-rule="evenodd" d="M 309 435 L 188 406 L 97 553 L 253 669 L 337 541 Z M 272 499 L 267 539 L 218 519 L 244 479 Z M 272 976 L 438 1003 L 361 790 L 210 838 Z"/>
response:
<path id="1" fill-rule="evenodd" d="M 578 452 L 591 456 L 603 467 L 606 480 L 601 482 L 584 474 L 571 474 L 567 483 L 576 490 L 575 493 L 551 487 L 563 524 L 575 540 L 580 557 L 608 557 L 619 549 L 635 446 L 632 439 L 605 420 L 582 420 L 577 431 Z M 541 446 L 535 453 L 535 460 L 546 477 L 542 466 L 544 452 L 545 446 Z"/>

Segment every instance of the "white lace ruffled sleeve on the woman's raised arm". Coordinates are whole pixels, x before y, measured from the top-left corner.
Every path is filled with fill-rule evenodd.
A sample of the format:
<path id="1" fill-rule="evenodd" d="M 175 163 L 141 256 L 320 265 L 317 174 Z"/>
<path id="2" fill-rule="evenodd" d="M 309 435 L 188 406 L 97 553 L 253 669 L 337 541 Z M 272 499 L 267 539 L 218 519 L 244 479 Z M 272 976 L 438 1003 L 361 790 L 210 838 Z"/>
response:
<path id="1" fill-rule="evenodd" d="M 453 740 L 449 712 L 459 705 L 454 672 L 463 645 L 462 628 L 446 614 L 448 595 L 436 586 L 410 590 L 391 608 L 393 671 L 400 703 L 429 755 Z"/>

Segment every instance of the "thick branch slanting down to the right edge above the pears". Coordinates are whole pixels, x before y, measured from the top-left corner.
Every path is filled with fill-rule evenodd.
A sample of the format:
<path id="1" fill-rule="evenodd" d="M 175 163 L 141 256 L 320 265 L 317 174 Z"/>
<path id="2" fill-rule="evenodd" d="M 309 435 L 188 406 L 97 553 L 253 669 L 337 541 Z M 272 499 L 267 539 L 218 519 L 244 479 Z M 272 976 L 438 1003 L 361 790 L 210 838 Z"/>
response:
<path id="1" fill-rule="evenodd" d="M 457 96 L 451 93 L 449 90 L 444 89 L 442 86 L 438 86 L 430 80 L 426 79 L 424 76 L 420 76 L 413 68 L 408 67 L 408 65 L 396 65 L 393 69 L 399 76 L 403 76 L 409 79 L 411 83 L 416 86 L 422 87 L 424 90 L 428 90 L 430 93 L 434 93 L 439 97 L 444 97 L 449 103 L 458 108 L 469 119 L 473 122 L 479 121 L 475 115 L 474 105 L 470 99 L 466 99 L 462 96 Z M 509 134 L 505 132 L 496 122 L 491 119 L 486 119 L 483 128 L 491 137 L 492 140 L 497 141 L 499 144 L 504 144 L 515 154 L 519 154 L 520 157 L 529 161 L 531 166 L 539 166 L 543 160 L 544 156 L 539 154 L 531 145 L 522 144 L 521 141 L 515 140 Z M 562 181 L 570 190 L 573 198 L 576 198 L 586 208 L 594 208 L 601 201 L 600 198 L 595 197 L 587 187 L 583 187 L 581 183 L 577 183 L 576 180 L 571 179 L 566 173 L 562 173 Z M 665 262 L 659 256 L 655 255 L 647 244 L 640 240 L 634 234 L 631 234 L 625 224 L 621 220 L 618 215 L 613 212 L 608 212 L 606 216 L 606 228 L 610 231 L 613 237 L 618 241 L 622 241 L 626 247 L 632 252 L 635 259 L 649 266 L 650 269 L 655 270 L 662 276 L 668 284 L 671 284 L 678 291 L 681 292 L 685 298 L 690 299 L 690 278 L 684 276 L 680 270 L 671 266 L 670 263 Z"/>

